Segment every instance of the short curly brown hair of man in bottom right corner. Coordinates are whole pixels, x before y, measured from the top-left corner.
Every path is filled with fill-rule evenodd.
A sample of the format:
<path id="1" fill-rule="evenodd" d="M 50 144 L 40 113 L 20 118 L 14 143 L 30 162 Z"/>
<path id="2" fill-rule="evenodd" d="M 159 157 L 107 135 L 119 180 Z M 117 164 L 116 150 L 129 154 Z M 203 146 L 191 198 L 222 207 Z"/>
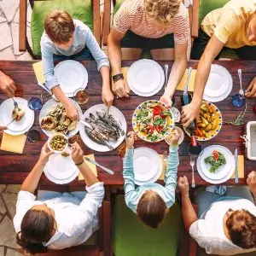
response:
<path id="1" fill-rule="evenodd" d="M 256 247 L 256 217 L 247 210 L 234 211 L 226 222 L 231 241 L 243 249 Z"/>

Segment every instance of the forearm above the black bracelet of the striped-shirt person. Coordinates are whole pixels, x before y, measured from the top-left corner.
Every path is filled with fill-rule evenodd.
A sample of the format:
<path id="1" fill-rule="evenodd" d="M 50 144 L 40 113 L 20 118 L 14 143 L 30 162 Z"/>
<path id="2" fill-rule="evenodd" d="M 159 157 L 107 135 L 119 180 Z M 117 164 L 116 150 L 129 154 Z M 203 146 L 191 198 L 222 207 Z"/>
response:
<path id="1" fill-rule="evenodd" d="M 111 36 L 108 38 L 108 58 L 113 75 L 121 73 L 122 51 L 120 41 L 113 41 Z"/>

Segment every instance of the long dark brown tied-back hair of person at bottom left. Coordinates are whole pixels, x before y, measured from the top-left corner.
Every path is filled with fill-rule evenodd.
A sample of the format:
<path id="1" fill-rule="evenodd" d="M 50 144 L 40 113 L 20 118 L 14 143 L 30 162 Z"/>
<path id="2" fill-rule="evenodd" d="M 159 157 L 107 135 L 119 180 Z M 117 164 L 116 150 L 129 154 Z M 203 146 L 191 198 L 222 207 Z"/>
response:
<path id="1" fill-rule="evenodd" d="M 30 209 L 24 215 L 16 239 L 28 253 L 46 251 L 43 242 L 49 241 L 55 227 L 55 218 L 47 212 Z"/>

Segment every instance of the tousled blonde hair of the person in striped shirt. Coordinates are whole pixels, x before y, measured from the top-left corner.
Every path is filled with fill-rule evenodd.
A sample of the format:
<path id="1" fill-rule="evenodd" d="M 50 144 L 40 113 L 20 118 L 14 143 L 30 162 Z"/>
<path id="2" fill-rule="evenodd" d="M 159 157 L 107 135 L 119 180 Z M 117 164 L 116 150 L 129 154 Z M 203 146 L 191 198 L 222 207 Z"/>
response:
<path id="1" fill-rule="evenodd" d="M 181 0 L 144 0 L 144 10 L 149 18 L 168 24 L 177 15 Z"/>

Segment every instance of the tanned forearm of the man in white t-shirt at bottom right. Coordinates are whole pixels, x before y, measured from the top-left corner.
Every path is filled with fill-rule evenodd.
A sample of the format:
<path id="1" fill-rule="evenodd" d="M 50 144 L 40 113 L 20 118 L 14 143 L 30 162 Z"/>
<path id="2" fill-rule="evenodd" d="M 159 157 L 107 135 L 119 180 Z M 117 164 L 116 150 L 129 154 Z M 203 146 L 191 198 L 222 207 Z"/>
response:
<path id="1" fill-rule="evenodd" d="M 182 195 L 183 222 L 187 230 L 198 218 L 188 195 Z"/>

